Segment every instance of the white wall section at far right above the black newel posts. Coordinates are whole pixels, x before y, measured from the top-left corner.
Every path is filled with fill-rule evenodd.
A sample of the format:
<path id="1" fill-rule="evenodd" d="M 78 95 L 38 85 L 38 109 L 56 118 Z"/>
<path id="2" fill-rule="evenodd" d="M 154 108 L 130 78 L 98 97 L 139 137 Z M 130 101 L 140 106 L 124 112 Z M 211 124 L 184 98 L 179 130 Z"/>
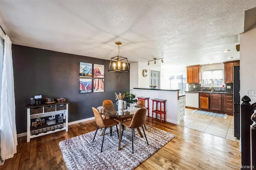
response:
<path id="1" fill-rule="evenodd" d="M 240 97 L 247 95 L 255 103 L 256 95 L 248 90 L 256 93 L 256 25 L 240 34 Z"/>

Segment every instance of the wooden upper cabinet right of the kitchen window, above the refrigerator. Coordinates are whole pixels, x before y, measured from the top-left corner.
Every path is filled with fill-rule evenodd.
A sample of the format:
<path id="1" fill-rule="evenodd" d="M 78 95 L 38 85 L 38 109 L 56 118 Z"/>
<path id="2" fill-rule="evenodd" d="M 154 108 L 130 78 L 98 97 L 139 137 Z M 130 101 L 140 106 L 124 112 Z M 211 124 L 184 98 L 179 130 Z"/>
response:
<path id="1" fill-rule="evenodd" d="M 238 65 L 240 65 L 239 60 L 224 62 L 224 83 L 233 83 L 233 69 Z"/>

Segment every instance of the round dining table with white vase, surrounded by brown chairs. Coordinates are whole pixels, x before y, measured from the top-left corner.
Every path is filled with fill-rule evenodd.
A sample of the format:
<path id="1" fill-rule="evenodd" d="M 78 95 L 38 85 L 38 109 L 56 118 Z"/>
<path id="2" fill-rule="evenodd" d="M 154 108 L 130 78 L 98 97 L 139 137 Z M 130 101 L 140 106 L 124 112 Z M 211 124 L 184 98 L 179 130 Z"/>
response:
<path id="1" fill-rule="evenodd" d="M 145 108 L 143 105 L 137 105 L 136 103 L 125 103 L 122 109 L 118 109 L 118 105 L 114 103 L 109 107 L 104 107 L 103 115 L 110 115 L 112 118 L 119 121 L 119 141 L 118 141 L 118 150 L 121 150 L 121 135 L 122 135 L 122 119 L 130 115 L 134 115 L 139 109 Z M 140 128 L 137 128 L 140 136 L 143 138 L 143 135 L 140 131 Z"/>

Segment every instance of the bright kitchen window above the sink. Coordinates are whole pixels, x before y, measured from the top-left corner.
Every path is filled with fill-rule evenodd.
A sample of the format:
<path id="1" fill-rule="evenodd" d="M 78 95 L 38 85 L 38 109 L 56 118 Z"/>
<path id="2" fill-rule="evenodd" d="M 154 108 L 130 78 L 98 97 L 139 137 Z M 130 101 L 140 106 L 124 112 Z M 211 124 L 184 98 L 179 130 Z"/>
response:
<path id="1" fill-rule="evenodd" d="M 202 71 L 202 86 L 224 87 L 224 70 L 203 70 Z"/>

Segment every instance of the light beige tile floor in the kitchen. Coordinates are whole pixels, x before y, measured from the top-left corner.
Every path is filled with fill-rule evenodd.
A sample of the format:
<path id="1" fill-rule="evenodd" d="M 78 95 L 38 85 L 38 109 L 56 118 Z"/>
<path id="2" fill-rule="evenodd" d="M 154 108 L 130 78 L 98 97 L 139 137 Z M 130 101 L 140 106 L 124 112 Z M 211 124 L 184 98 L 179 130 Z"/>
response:
<path id="1" fill-rule="evenodd" d="M 194 109 L 185 109 L 184 120 L 179 125 L 239 142 L 234 137 L 233 116 L 228 115 L 227 119 L 223 119 L 192 113 L 192 111 Z"/>

